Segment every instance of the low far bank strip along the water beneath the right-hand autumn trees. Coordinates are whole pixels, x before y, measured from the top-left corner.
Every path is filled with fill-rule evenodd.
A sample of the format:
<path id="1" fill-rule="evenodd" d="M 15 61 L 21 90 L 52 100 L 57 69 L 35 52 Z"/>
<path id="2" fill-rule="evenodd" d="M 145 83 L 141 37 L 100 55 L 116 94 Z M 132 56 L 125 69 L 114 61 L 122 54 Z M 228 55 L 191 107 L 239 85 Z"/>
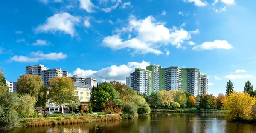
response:
<path id="1" fill-rule="evenodd" d="M 151 112 L 169 112 L 169 113 L 224 113 L 225 110 L 197 110 L 197 109 L 151 109 Z"/>

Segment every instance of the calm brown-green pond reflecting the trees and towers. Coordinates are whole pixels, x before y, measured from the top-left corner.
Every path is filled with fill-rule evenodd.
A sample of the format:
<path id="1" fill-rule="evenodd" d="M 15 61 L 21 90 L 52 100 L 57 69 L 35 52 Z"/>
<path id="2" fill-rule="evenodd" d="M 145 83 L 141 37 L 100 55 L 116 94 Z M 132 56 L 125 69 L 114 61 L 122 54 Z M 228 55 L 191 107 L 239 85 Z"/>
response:
<path id="1" fill-rule="evenodd" d="M 255 124 L 227 122 L 223 114 L 151 113 L 137 119 L 16 128 L 3 133 L 256 133 Z"/>

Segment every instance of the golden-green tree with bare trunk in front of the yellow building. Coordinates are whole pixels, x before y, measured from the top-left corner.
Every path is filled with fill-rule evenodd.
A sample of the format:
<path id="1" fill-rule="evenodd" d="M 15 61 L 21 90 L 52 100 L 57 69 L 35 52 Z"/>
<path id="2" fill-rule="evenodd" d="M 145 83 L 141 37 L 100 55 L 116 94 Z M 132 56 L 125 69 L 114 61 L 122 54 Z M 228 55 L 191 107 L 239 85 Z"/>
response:
<path id="1" fill-rule="evenodd" d="M 54 77 L 48 81 L 50 102 L 59 105 L 64 112 L 64 105 L 76 100 L 74 82 L 69 77 Z"/>

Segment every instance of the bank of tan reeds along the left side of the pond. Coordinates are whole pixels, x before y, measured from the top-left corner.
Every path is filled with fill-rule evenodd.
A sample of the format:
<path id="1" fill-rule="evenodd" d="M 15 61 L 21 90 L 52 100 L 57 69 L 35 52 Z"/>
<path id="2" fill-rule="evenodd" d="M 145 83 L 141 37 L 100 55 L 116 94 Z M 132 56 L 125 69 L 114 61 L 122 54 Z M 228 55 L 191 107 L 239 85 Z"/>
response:
<path id="1" fill-rule="evenodd" d="M 102 122 L 102 121 L 116 121 L 121 120 L 122 117 L 119 114 L 107 114 L 107 115 L 91 115 L 84 116 L 67 116 L 67 117 L 55 117 L 55 118 L 33 118 L 22 119 L 16 124 L 15 127 L 37 127 L 48 125 L 68 125 L 79 124 L 87 122 Z"/>

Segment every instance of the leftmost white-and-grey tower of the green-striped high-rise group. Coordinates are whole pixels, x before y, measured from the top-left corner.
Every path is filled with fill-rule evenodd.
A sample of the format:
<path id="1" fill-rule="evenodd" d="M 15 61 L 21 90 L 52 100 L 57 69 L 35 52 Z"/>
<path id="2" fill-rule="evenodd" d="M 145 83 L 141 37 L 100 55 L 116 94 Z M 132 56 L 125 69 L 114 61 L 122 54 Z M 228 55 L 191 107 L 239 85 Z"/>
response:
<path id="1" fill-rule="evenodd" d="M 137 93 L 145 93 L 147 96 L 153 91 L 153 75 L 152 71 L 136 68 L 133 73 L 126 78 L 128 87 L 137 91 Z"/>

